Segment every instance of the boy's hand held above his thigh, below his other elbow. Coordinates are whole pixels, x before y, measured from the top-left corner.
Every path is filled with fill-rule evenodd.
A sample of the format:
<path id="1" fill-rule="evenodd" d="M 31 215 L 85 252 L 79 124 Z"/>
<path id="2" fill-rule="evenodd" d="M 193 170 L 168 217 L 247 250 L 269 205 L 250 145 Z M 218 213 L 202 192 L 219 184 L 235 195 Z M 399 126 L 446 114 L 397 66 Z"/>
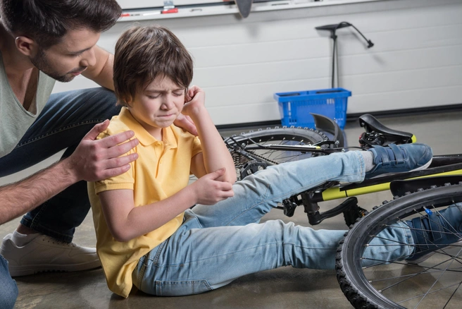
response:
<path id="1" fill-rule="evenodd" d="M 235 195 L 231 183 L 216 180 L 223 174 L 225 169 L 218 169 L 192 183 L 191 186 L 195 186 L 197 204 L 213 205 Z"/>

